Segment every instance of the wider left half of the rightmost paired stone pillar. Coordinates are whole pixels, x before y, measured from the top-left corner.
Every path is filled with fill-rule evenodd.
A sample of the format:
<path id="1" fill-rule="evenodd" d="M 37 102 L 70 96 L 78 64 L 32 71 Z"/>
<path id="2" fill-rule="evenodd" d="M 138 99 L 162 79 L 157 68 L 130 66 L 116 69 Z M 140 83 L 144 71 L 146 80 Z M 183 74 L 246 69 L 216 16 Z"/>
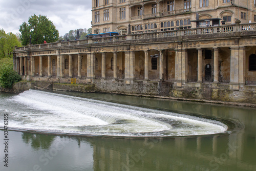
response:
<path id="1" fill-rule="evenodd" d="M 230 49 L 230 83 L 233 84 L 233 90 L 239 90 L 239 48 Z"/>

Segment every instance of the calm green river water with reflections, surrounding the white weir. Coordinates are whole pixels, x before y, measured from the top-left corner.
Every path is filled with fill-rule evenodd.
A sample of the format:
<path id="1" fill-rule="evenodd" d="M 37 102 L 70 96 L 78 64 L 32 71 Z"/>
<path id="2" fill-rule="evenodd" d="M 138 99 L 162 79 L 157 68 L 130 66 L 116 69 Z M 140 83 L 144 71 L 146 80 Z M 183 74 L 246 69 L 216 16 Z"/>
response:
<path id="1" fill-rule="evenodd" d="M 70 93 L 68 93 L 70 94 Z M 84 94 L 71 93 L 84 96 Z M 9 170 L 255 170 L 256 110 L 238 106 L 86 94 L 114 102 L 230 121 L 225 135 L 112 139 L 9 132 Z M 111 98 L 112 99 L 111 99 Z M 1 111 L 3 113 L 4 111 Z M 1 116 L 2 117 L 2 116 Z M 0 131 L 3 135 L 3 131 Z M 0 150 L 3 144 L 0 144 Z M 46 157 L 46 154 L 49 154 Z M 41 159 L 41 160 L 40 160 Z M 47 163 L 47 159 L 49 160 Z M 3 154 L 0 154 L 3 163 Z M 7 170 L 8 170 L 7 169 Z"/>

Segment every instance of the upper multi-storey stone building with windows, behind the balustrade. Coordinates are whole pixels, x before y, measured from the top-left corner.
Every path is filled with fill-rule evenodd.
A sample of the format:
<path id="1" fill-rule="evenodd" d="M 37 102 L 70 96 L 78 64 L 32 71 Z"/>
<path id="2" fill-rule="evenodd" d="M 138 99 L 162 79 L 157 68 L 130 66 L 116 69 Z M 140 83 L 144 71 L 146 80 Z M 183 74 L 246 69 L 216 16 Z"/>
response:
<path id="1" fill-rule="evenodd" d="M 93 0 L 93 33 L 125 34 L 256 22 L 255 1 L 247 0 Z"/>

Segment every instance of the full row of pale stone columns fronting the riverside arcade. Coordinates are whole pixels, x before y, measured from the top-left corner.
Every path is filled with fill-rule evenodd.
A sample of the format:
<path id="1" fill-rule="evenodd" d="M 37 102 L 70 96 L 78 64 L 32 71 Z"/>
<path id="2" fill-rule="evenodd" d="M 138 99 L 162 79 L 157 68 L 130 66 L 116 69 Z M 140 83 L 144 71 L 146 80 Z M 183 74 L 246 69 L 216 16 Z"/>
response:
<path id="1" fill-rule="evenodd" d="M 164 51 L 167 50 L 157 50 L 159 56 L 159 80 L 163 79 L 163 75 L 165 73 L 164 65 L 166 60 L 164 60 Z M 125 51 L 124 52 L 124 79 L 125 80 L 135 80 L 135 67 L 138 65 L 135 63 L 135 52 L 136 51 Z M 151 50 L 144 50 L 144 80 L 149 80 L 149 66 L 150 66 L 150 53 Z M 220 47 L 212 48 L 212 52 L 214 52 L 214 69 L 213 69 L 213 77 L 214 83 L 219 82 L 219 54 Z M 65 77 L 63 70 L 65 69 L 65 55 L 69 55 L 69 77 L 73 77 L 73 67 L 77 65 L 77 76 L 81 78 L 81 55 L 87 55 L 87 79 L 95 78 L 95 55 L 99 52 L 89 52 L 89 53 L 71 53 L 71 54 L 55 54 L 48 55 L 48 74 L 43 75 L 43 58 L 45 56 L 35 55 L 35 56 L 27 56 L 27 57 L 17 57 L 19 59 L 19 73 L 20 75 L 31 75 L 35 76 L 35 57 L 39 57 L 39 77 L 52 77 L 52 63 L 51 58 L 54 56 L 57 59 L 56 62 L 56 77 L 63 78 Z M 106 53 L 110 52 L 100 52 L 101 54 L 101 78 L 106 78 Z M 117 53 L 113 53 L 113 79 L 117 79 Z M 175 81 L 177 82 L 177 87 L 181 87 L 183 83 L 187 82 L 188 75 L 188 49 L 175 49 Z M 73 57 L 77 57 L 77 63 L 73 62 Z M 244 74 L 245 74 L 245 48 L 244 47 L 230 47 L 230 83 L 234 84 L 234 89 L 239 84 L 244 84 Z M 119 56 L 120 57 L 120 56 Z M 197 82 L 203 82 L 203 48 L 197 49 Z M 17 62 L 17 61 L 16 61 Z M 30 67 L 29 67 L 30 66 Z M 18 71 L 18 70 L 17 70 Z M 38 75 L 37 75 L 38 76 Z"/>

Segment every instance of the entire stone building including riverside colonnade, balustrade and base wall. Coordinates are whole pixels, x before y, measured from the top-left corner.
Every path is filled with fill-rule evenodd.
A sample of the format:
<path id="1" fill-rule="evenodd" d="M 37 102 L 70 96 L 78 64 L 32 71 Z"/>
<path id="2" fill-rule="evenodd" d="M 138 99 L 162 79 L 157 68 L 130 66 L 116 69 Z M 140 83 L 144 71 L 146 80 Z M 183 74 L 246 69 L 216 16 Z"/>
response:
<path id="1" fill-rule="evenodd" d="M 145 19 L 152 2 L 157 4 L 156 16 Z M 14 69 L 26 80 L 76 78 L 77 83 L 95 84 L 101 92 L 255 103 L 256 13 L 249 9 L 256 8 L 254 2 L 172 2 L 173 13 L 168 13 L 165 1 L 93 1 L 93 18 L 100 22 L 93 20 L 92 29 L 119 30 L 124 35 L 16 48 Z M 187 3 L 191 8 L 184 9 Z M 121 5 L 129 17 L 119 23 Z M 109 14 L 104 14 L 107 6 Z M 140 7 L 142 13 L 136 12 Z M 106 16 L 111 19 L 104 21 Z M 227 19 L 224 25 L 223 19 Z M 206 22 L 212 26 L 204 27 Z M 156 29 L 150 30 L 152 23 Z"/>

